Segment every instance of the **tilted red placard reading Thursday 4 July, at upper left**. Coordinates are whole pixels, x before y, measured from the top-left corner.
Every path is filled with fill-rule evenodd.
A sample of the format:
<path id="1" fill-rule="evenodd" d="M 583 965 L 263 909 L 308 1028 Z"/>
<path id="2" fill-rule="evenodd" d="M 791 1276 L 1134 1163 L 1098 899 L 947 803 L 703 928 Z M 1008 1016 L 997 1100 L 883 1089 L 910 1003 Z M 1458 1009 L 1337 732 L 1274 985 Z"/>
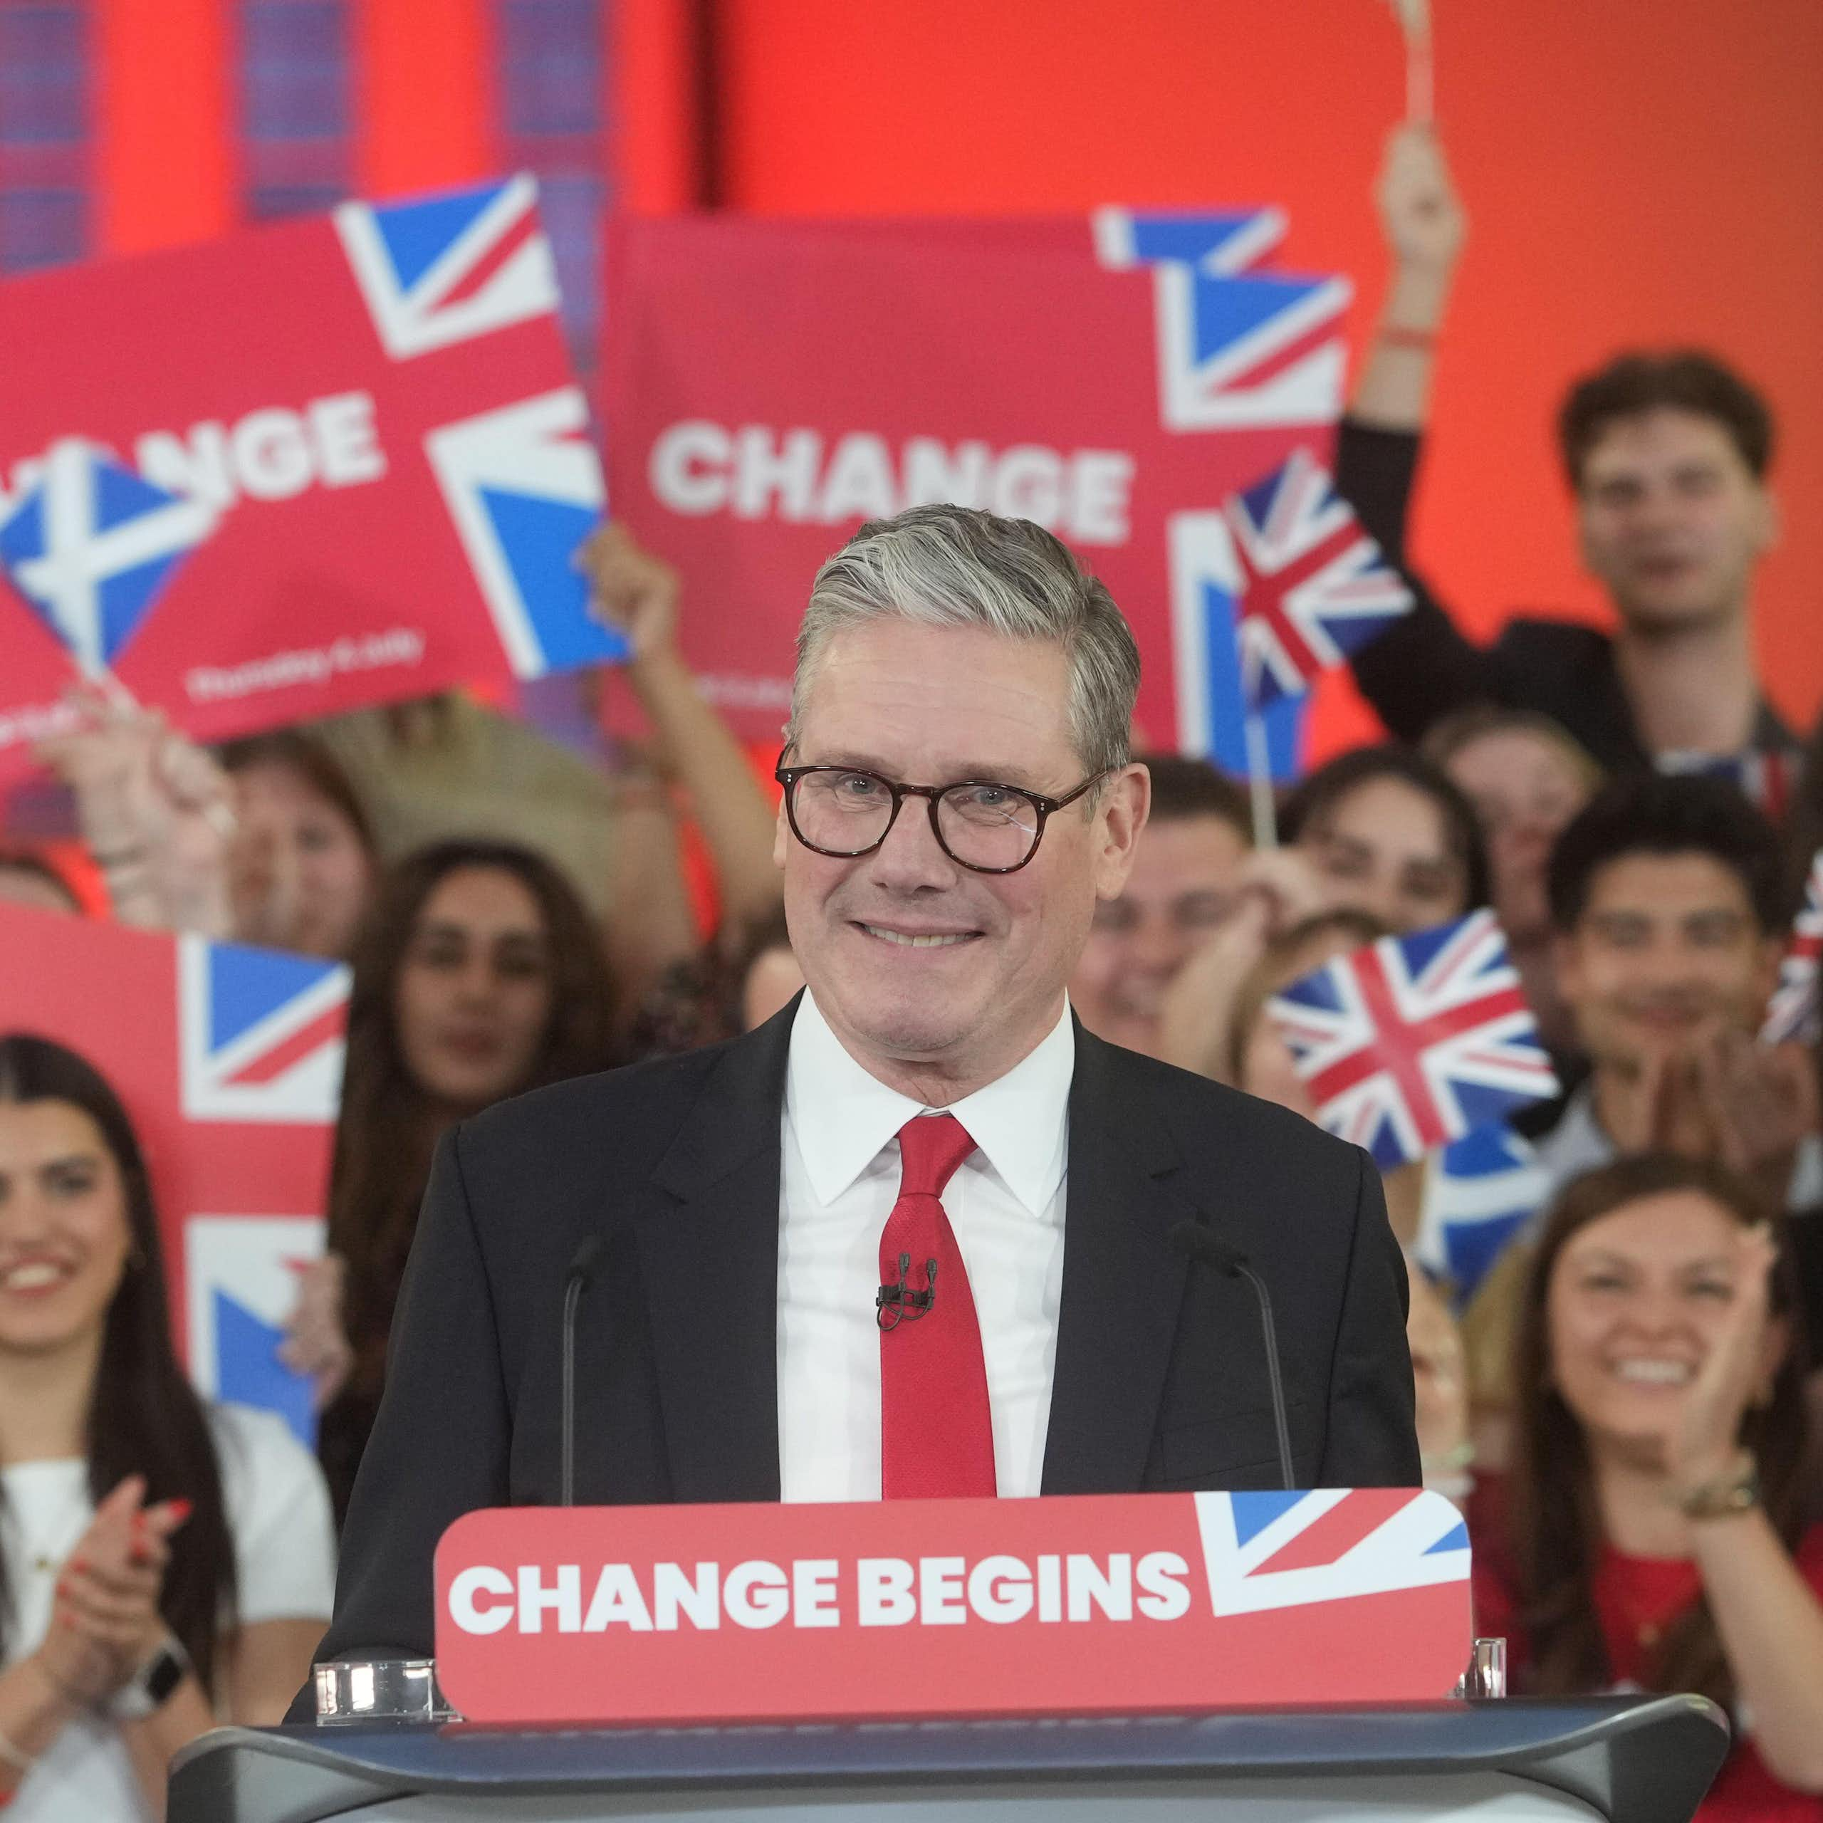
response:
<path id="1" fill-rule="evenodd" d="M 613 656 L 536 186 L 0 286 L 0 773 L 71 680 L 201 738 Z"/>

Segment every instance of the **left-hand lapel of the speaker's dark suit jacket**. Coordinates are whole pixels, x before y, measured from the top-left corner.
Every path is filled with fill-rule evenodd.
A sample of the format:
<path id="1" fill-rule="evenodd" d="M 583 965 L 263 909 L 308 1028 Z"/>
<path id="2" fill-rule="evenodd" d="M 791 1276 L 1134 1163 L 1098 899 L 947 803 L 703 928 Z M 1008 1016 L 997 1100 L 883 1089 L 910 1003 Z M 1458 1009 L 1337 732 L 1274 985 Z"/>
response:
<path id="1" fill-rule="evenodd" d="M 793 1001 L 720 1056 L 638 1223 L 678 1500 L 778 1499 L 778 1125 Z"/>

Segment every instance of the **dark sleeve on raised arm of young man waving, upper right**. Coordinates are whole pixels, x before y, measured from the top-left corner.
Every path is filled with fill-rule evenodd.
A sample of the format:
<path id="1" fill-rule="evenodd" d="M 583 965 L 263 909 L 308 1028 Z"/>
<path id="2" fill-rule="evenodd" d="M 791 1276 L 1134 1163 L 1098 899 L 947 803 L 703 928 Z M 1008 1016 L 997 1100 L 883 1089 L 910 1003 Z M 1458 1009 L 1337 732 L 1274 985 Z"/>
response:
<path id="1" fill-rule="evenodd" d="M 1336 438 L 1336 492 L 1373 541 L 1400 567 L 1415 602 L 1380 638 L 1349 662 L 1362 695 L 1400 740 L 1422 740 L 1457 709 L 1506 702 L 1500 654 L 1457 627 L 1406 558 L 1406 523 L 1420 441 L 1411 430 L 1378 430 L 1342 421 Z"/>

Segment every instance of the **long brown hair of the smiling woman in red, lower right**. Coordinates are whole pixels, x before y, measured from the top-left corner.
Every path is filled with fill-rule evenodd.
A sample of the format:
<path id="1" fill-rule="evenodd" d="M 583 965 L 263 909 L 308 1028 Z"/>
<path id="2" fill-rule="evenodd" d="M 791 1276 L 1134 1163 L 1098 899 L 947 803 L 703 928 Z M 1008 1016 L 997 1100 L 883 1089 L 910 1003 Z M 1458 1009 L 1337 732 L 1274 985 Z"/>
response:
<path id="1" fill-rule="evenodd" d="M 1577 1178 L 1559 1196 L 1539 1234 L 1515 1331 L 1517 1435 L 1511 1464 L 1511 1548 L 1520 1613 L 1531 1641 L 1528 1694 L 1575 1695 L 1613 1681 L 1595 1612 L 1595 1566 L 1602 1520 L 1582 1426 L 1551 1373 L 1550 1289 L 1564 1245 L 1579 1231 L 1648 1196 L 1694 1190 L 1743 1227 L 1770 1220 L 1750 1185 L 1701 1159 L 1652 1152 Z M 1772 1313 L 1790 1318 L 1792 1260 L 1781 1236 L 1772 1276 Z M 1770 1400 L 1746 1413 L 1741 1442 L 1759 1458 L 1766 1517 L 1790 1548 L 1803 1529 L 1805 1455 L 1803 1349 L 1794 1331 Z M 1695 1690 L 1726 1706 L 1734 1674 L 1706 1599 L 1697 1599 L 1659 1641 L 1648 1664 L 1653 1690 Z"/>

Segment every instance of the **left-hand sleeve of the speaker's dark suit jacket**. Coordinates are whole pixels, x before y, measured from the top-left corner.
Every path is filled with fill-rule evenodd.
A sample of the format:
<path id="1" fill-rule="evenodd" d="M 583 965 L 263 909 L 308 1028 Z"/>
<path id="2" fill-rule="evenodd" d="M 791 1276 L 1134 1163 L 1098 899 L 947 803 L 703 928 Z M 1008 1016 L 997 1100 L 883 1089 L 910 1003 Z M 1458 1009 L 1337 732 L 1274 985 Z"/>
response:
<path id="1" fill-rule="evenodd" d="M 463 1181 L 463 1130 L 438 1145 L 386 1356 L 386 1391 L 343 1528 L 317 1659 L 428 1657 L 430 1562 L 445 1526 L 507 1504 L 500 1329 Z M 461 1447 L 450 1447 L 459 1438 Z M 303 1701 L 303 1699 L 301 1699 Z M 294 1721 L 308 1721 L 306 1708 Z"/>

